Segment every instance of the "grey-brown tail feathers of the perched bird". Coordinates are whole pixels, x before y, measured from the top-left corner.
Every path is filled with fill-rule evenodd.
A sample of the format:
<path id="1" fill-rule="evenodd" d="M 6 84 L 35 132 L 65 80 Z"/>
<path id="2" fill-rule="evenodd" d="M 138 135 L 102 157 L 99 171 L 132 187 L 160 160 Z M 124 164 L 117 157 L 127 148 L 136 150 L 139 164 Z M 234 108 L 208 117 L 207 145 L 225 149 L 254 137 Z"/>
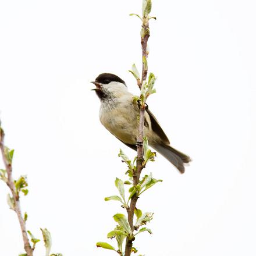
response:
<path id="1" fill-rule="evenodd" d="M 184 163 L 191 162 L 189 156 L 175 150 L 175 148 L 172 148 L 169 145 L 154 144 L 151 146 L 152 148 L 157 150 L 163 157 L 165 157 L 169 162 L 171 162 L 180 171 L 180 173 L 185 172 Z"/>

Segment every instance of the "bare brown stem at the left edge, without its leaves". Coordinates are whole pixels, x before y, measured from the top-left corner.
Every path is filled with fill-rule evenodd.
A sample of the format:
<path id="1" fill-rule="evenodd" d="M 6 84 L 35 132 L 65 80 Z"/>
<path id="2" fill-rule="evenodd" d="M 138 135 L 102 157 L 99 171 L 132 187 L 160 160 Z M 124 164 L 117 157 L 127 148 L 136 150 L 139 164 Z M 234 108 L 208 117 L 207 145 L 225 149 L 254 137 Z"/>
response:
<path id="1" fill-rule="evenodd" d="M 6 169 L 7 177 L 8 177 L 8 181 L 6 182 L 6 184 L 9 187 L 10 191 L 12 192 L 13 200 L 15 202 L 14 211 L 17 214 L 17 217 L 18 217 L 19 223 L 20 223 L 20 229 L 22 230 L 24 249 L 27 253 L 27 256 L 33 256 L 33 250 L 29 243 L 29 237 L 27 236 L 26 224 L 25 224 L 25 221 L 22 216 L 22 211 L 20 209 L 19 194 L 16 193 L 15 184 L 14 184 L 13 178 L 12 178 L 12 164 L 8 162 L 8 160 L 6 159 L 6 155 L 5 155 L 5 145 L 3 143 L 4 137 L 5 137 L 5 133 L 3 132 L 3 130 L 0 127 L 0 149 L 2 152 L 3 163 L 5 164 L 5 169 Z"/>

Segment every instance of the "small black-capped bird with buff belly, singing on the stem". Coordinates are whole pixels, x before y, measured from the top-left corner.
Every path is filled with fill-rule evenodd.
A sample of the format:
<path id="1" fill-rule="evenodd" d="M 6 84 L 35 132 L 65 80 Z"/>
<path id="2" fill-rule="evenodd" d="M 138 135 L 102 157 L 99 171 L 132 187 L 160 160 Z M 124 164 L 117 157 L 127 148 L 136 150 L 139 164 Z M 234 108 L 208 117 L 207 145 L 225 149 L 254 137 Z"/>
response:
<path id="1" fill-rule="evenodd" d="M 99 120 L 102 125 L 122 143 L 137 150 L 140 106 L 134 102 L 134 96 L 127 90 L 125 81 L 115 74 L 103 73 L 91 83 L 95 84 L 93 90 L 101 101 Z M 184 163 L 189 163 L 190 157 L 170 147 L 168 137 L 148 108 L 145 111 L 144 136 L 154 150 L 171 162 L 180 173 L 184 173 Z"/>

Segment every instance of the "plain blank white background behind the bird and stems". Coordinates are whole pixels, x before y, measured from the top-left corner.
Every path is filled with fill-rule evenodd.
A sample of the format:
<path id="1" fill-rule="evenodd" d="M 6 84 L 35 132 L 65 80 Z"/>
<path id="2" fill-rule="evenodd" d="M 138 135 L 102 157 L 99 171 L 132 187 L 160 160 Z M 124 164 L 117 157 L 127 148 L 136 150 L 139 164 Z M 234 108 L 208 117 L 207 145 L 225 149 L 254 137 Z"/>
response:
<path id="1" fill-rule="evenodd" d="M 147 256 L 255 255 L 255 70 L 253 0 L 153 1 L 148 101 L 171 144 L 193 162 L 184 175 L 160 155 L 149 163 L 163 183 L 138 200 L 154 212 L 153 234 L 134 242 Z M 26 174 L 27 228 L 52 234 L 52 252 L 115 255 L 96 248 L 125 211 L 114 195 L 125 179 L 122 147 L 98 120 L 93 81 L 140 66 L 140 1 L 1 1 L 0 110 L 13 175 Z M 1 167 L 2 163 L 1 163 Z M 23 251 L 17 218 L 0 183 L 0 255 Z M 115 245 L 114 241 L 109 241 Z M 43 243 L 35 255 L 44 255 Z M 117 255 L 117 254 L 116 254 Z"/>

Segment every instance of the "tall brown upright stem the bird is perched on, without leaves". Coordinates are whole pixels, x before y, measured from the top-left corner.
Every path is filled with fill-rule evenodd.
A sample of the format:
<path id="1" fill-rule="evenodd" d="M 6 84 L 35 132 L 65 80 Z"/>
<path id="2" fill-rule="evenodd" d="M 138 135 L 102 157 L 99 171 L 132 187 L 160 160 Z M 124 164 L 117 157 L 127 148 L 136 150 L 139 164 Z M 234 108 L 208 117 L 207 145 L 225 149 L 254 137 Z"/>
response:
<path id="1" fill-rule="evenodd" d="M 148 24 L 148 17 L 144 17 L 143 24 L 142 24 L 143 30 L 146 31 L 146 33 L 141 35 L 141 49 L 142 49 L 142 58 L 148 57 L 147 52 L 147 43 L 148 38 L 150 37 L 150 30 L 149 30 L 149 24 Z M 137 80 L 138 87 L 141 89 L 141 86 L 143 82 L 147 79 L 147 73 L 148 69 L 142 64 L 142 76 L 141 80 Z M 140 106 L 140 123 L 138 127 L 138 137 L 137 137 L 137 163 L 136 163 L 136 172 L 133 174 L 133 186 L 136 186 L 138 182 L 140 181 L 140 174 L 143 170 L 143 135 L 144 135 L 144 118 L 145 118 L 145 104 L 141 104 Z M 134 194 L 131 198 L 130 206 L 127 208 L 127 214 L 128 214 L 128 222 L 131 227 L 131 232 L 134 231 L 134 210 L 136 208 L 138 197 L 137 194 Z M 133 239 L 134 240 L 134 239 Z M 133 247 L 133 240 L 126 239 L 126 247 L 125 247 L 125 256 L 131 255 L 131 248 Z"/>

